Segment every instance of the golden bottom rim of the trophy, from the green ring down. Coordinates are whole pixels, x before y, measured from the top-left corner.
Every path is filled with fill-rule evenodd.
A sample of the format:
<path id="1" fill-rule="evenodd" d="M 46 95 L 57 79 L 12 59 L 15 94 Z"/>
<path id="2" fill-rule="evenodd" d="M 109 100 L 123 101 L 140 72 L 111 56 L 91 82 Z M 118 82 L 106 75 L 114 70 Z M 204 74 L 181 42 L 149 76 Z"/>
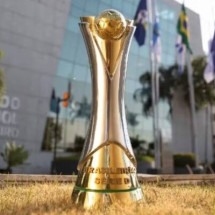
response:
<path id="1" fill-rule="evenodd" d="M 106 209 L 114 204 L 133 205 L 143 201 L 141 187 L 129 190 L 87 190 L 75 187 L 72 201 L 84 209 Z"/>

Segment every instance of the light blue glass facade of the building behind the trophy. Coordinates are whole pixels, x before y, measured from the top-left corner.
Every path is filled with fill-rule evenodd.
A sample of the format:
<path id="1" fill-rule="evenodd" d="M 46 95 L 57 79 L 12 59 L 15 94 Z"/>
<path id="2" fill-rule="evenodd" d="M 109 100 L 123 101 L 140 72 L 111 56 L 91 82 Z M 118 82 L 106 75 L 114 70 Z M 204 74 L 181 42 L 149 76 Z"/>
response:
<path id="1" fill-rule="evenodd" d="M 61 141 L 63 148 L 73 147 L 75 139 L 85 137 L 91 109 L 91 77 L 87 52 L 78 23 L 80 16 L 98 15 L 109 8 L 119 10 L 126 18 L 133 19 L 139 1 L 132 0 L 72 0 L 64 41 L 59 56 L 57 74 L 53 87 L 56 96 L 63 97 L 68 82 L 72 85 L 72 103 L 67 108 L 61 105 L 60 123 L 62 125 Z M 176 19 L 173 8 L 157 1 L 160 19 L 162 43 L 162 65 L 169 66 L 175 62 Z M 146 44 L 139 47 L 135 39 L 131 44 L 128 58 L 125 104 L 128 113 L 127 123 L 130 137 L 137 137 L 147 142 L 153 141 L 152 116 L 142 113 L 142 104 L 133 99 L 136 89 L 141 88 L 139 77 L 151 71 L 150 38 L 147 34 Z M 159 121 L 162 128 L 171 129 L 169 106 L 159 103 Z M 55 114 L 49 116 L 55 117 Z"/>

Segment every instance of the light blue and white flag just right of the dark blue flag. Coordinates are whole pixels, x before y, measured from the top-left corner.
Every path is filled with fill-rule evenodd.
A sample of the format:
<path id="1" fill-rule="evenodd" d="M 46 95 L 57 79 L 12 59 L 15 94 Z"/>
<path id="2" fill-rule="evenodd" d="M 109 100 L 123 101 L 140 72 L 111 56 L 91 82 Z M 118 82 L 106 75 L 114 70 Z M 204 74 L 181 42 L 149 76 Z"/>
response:
<path id="1" fill-rule="evenodd" d="M 159 19 L 157 17 L 153 25 L 152 50 L 155 54 L 156 61 L 160 63 L 161 62 L 161 40 L 160 40 Z"/>

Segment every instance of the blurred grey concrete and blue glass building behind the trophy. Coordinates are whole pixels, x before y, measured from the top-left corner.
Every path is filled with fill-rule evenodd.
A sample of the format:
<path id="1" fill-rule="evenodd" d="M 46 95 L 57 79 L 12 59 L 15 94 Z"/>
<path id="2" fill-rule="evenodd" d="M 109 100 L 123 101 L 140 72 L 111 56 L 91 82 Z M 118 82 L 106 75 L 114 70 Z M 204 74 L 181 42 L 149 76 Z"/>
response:
<path id="1" fill-rule="evenodd" d="M 91 108 L 91 74 L 79 17 L 96 16 L 109 8 L 133 19 L 139 1 L 133 0 L 0 0 L 0 49 L 5 52 L 7 92 L 0 109 L 0 149 L 6 140 L 15 140 L 29 151 L 29 165 L 16 172 L 49 173 L 53 157 L 53 124 L 50 112 L 53 88 L 63 97 L 71 82 L 72 102 L 60 106 L 59 143 L 62 156 L 84 138 Z M 176 23 L 181 9 L 172 0 L 159 0 L 162 65 L 175 63 Z M 188 10 L 191 47 L 203 55 L 199 15 Z M 128 59 L 125 102 L 130 137 L 153 142 L 152 116 L 142 113 L 133 99 L 140 88 L 139 77 L 150 71 L 150 37 L 139 47 L 133 39 Z M 66 106 L 66 105 L 65 105 Z M 135 119 L 134 119 L 135 118 Z M 197 113 L 197 143 L 200 161 L 212 161 L 212 134 L 206 112 Z M 174 153 L 191 152 L 189 107 L 178 93 L 173 100 L 173 117 L 167 103 L 159 103 L 159 122 L 163 133 L 171 134 Z M 209 124 L 208 124 L 209 123 Z M 206 141 L 207 139 L 207 141 Z M 206 147 L 207 142 L 207 147 Z M 207 156 L 207 158 L 205 157 Z M 0 162 L 0 165 L 2 163 Z"/>

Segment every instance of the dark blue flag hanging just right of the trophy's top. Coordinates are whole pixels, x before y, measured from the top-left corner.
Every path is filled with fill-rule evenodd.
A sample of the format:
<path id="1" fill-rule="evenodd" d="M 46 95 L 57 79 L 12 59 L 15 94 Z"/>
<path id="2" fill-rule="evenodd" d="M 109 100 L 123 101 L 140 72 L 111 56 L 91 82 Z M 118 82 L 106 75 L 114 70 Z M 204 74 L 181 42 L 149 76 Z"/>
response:
<path id="1" fill-rule="evenodd" d="M 147 0 L 140 0 L 134 16 L 134 24 L 136 31 L 134 37 L 139 46 L 144 45 L 146 38 L 146 25 L 147 25 Z"/>

